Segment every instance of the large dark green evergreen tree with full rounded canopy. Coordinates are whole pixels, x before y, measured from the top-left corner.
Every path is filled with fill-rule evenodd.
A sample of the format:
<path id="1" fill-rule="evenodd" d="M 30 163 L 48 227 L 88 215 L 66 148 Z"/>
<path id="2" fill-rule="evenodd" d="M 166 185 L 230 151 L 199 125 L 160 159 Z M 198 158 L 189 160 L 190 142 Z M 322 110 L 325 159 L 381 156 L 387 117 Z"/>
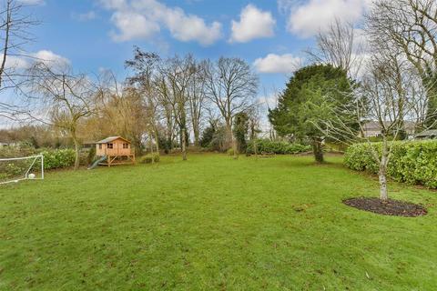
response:
<path id="1" fill-rule="evenodd" d="M 351 105 L 352 85 L 346 72 L 332 65 L 303 67 L 291 76 L 277 108 L 269 110 L 269 121 L 281 136 L 309 139 L 316 160 L 321 162 L 325 134 L 318 120 L 320 116 L 339 115 L 338 108 Z M 350 113 L 340 115 L 344 120 L 352 118 Z"/>

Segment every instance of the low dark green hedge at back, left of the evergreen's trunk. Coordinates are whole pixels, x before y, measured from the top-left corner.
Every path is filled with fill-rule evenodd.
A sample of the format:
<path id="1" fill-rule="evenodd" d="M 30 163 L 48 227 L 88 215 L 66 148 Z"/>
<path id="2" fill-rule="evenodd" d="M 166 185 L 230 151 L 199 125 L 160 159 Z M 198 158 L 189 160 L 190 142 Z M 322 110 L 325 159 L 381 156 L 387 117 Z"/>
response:
<path id="1" fill-rule="evenodd" d="M 271 141 L 269 139 L 259 139 L 256 141 L 258 153 L 271 153 L 278 155 L 290 155 L 299 154 L 303 152 L 308 152 L 311 150 L 311 146 L 304 146 L 300 144 L 290 144 L 287 142 Z M 250 142 L 248 149 L 246 150 L 248 154 L 255 154 L 254 142 Z"/>

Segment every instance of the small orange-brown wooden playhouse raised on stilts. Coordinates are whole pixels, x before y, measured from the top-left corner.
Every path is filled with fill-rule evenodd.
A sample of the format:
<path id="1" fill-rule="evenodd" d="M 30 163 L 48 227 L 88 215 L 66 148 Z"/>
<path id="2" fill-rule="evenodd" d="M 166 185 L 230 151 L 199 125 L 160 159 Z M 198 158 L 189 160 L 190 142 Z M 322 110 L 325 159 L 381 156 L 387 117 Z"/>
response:
<path id="1" fill-rule="evenodd" d="M 99 165 L 135 164 L 135 153 L 131 143 L 121 136 L 109 136 L 97 142 L 96 155 L 103 158 Z"/>

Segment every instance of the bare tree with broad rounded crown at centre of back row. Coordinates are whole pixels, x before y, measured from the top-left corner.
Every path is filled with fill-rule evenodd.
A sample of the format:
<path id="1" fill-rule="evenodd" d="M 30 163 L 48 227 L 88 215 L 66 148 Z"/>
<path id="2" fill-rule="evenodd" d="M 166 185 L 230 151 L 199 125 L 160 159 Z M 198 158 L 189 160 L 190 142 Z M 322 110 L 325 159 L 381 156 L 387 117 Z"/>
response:
<path id="1" fill-rule="evenodd" d="M 206 88 L 208 98 L 225 121 L 228 144 L 233 146 L 234 157 L 237 157 L 232 121 L 236 114 L 247 111 L 254 104 L 258 76 L 242 59 L 220 57 L 217 63 L 208 64 Z"/>

